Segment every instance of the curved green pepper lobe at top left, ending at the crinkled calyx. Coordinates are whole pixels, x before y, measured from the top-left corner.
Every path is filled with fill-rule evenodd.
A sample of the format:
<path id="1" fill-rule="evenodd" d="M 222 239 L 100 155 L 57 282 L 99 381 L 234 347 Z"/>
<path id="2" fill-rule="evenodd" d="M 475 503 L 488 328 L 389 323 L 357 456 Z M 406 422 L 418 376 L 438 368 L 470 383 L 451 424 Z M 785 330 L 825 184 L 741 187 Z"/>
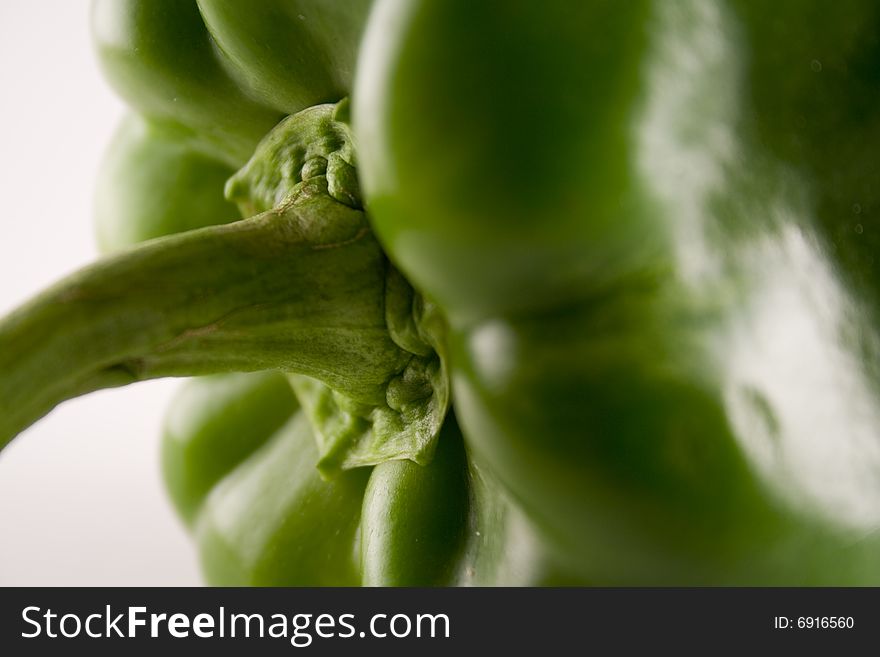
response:
<path id="1" fill-rule="evenodd" d="M 91 18 L 117 93 L 212 156 L 240 166 L 281 118 L 229 73 L 194 0 L 95 0 Z"/>

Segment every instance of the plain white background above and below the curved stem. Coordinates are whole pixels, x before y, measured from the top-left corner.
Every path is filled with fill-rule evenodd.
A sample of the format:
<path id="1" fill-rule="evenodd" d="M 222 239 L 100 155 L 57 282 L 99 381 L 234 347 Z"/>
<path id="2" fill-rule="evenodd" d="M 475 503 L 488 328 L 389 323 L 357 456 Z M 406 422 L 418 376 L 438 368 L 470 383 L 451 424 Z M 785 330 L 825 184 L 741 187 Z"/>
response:
<path id="1" fill-rule="evenodd" d="M 91 208 L 123 105 L 87 0 L 0 2 L 0 314 L 96 257 Z M 200 583 L 162 488 L 176 381 L 63 404 L 0 453 L 0 586 Z"/>

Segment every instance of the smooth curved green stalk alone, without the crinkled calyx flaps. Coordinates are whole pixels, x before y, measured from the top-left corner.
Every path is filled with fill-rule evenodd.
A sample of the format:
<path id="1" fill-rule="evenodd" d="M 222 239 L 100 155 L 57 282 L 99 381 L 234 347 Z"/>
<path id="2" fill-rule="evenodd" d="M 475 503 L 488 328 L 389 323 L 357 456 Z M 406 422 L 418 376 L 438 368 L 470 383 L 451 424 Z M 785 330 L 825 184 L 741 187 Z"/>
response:
<path id="1" fill-rule="evenodd" d="M 0 445 L 58 403 L 161 376 L 280 369 L 384 403 L 385 258 L 323 194 L 102 260 L 0 323 Z"/>

